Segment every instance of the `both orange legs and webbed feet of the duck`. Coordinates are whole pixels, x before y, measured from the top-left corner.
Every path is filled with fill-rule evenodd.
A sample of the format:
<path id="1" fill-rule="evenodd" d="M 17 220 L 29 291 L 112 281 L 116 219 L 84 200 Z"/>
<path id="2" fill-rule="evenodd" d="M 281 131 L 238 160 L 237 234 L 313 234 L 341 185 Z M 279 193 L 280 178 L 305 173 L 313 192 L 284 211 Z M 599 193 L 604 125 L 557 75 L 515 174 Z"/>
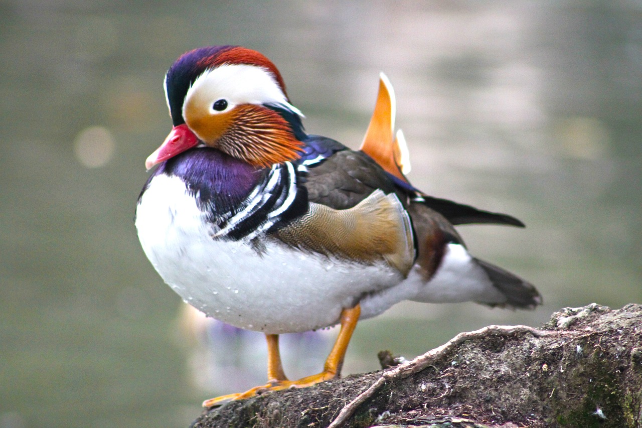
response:
<path id="1" fill-rule="evenodd" d="M 279 353 L 279 335 L 266 334 L 265 336 L 268 341 L 269 383 L 263 386 L 257 386 L 256 388 L 248 389 L 248 391 L 245 391 L 244 393 L 222 395 L 221 397 L 212 398 L 211 400 L 205 400 L 203 402 L 203 407 L 212 407 L 231 400 L 241 400 L 243 398 L 254 397 L 254 395 L 257 395 L 257 393 L 265 391 L 279 391 L 280 389 L 288 388 L 304 388 L 306 386 L 317 384 L 318 382 L 323 382 L 324 380 L 334 379 L 335 377 L 338 377 L 343 366 L 345 352 L 348 348 L 348 344 L 350 343 L 352 332 L 354 332 L 357 321 L 359 321 L 360 314 L 361 307 L 359 305 L 356 305 L 356 307 L 351 309 L 342 310 L 341 329 L 339 330 L 339 335 L 334 342 L 334 346 L 332 347 L 330 355 L 328 355 L 327 359 L 325 360 L 324 370 L 321 373 L 307 376 L 299 380 L 288 380 L 285 376 L 285 373 L 283 372 L 283 367 L 281 365 L 281 354 Z"/>

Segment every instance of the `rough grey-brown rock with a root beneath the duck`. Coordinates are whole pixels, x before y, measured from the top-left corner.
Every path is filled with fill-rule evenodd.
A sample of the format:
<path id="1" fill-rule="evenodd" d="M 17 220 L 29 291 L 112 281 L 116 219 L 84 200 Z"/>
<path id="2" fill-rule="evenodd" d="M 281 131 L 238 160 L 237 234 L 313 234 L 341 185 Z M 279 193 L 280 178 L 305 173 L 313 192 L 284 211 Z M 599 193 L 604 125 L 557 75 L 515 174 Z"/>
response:
<path id="1" fill-rule="evenodd" d="M 333 426 L 642 427 L 642 305 L 564 308 L 528 329 L 458 335 L 399 373 L 230 402 L 193 427 L 327 427 L 377 381 Z"/>

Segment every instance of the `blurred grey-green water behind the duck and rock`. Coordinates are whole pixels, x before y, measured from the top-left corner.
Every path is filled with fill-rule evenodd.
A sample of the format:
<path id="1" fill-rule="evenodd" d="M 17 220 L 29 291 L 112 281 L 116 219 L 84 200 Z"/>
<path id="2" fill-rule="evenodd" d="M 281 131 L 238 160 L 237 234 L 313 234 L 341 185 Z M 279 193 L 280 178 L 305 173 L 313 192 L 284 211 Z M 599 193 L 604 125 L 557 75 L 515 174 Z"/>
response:
<path id="1" fill-rule="evenodd" d="M 0 428 L 187 427 L 233 391 L 193 377 L 207 358 L 132 222 L 171 127 L 164 73 L 198 46 L 265 53 L 306 129 L 352 148 L 385 71 L 413 184 L 528 226 L 459 230 L 541 308 L 402 303 L 360 323 L 345 373 L 382 349 L 642 302 L 639 0 L 5 0 L 0 37 Z M 260 378 L 259 339 L 239 352 Z"/>

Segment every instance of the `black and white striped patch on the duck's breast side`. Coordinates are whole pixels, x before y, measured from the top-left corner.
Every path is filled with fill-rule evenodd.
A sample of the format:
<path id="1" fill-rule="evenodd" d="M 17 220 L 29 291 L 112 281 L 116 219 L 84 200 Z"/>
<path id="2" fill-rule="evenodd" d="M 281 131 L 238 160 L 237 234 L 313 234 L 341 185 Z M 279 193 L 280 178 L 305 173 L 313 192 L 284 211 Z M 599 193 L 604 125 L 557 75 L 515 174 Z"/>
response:
<path id="1" fill-rule="evenodd" d="M 274 165 L 270 174 L 252 190 L 235 210 L 217 213 L 209 207 L 211 222 L 220 229 L 214 238 L 252 239 L 271 227 L 299 217 L 308 210 L 306 189 L 297 186 L 297 174 L 290 162 Z"/>

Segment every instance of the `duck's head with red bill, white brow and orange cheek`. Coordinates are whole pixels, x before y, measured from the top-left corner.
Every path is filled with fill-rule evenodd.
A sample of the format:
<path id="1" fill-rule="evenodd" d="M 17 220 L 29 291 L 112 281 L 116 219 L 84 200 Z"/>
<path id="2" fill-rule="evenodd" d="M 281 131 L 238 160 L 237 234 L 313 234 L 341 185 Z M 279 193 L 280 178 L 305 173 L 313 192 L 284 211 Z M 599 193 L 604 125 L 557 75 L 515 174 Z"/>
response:
<path id="1" fill-rule="evenodd" d="M 254 166 L 299 157 L 302 114 L 261 53 L 239 46 L 194 49 L 169 67 L 164 87 L 173 129 L 147 158 L 148 169 L 197 146 Z"/>

